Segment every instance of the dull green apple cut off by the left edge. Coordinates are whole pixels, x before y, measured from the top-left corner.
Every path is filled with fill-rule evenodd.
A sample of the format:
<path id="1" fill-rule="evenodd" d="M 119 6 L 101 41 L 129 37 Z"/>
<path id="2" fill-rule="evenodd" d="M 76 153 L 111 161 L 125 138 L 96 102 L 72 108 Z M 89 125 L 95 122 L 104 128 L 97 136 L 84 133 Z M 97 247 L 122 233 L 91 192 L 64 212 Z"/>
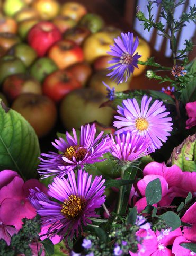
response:
<path id="1" fill-rule="evenodd" d="M 5 55 L 0 58 L 0 83 L 4 81 L 7 76 L 25 73 L 25 64 L 15 56 Z"/>

